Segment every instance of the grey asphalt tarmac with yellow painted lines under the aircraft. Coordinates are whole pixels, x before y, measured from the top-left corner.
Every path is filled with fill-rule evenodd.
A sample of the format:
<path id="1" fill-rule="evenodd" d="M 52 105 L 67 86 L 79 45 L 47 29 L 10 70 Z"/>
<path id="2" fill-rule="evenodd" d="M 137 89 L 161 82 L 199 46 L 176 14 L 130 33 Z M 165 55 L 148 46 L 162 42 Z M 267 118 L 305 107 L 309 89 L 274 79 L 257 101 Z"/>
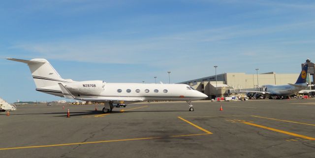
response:
<path id="1" fill-rule="evenodd" d="M 20 105 L 0 113 L 0 157 L 315 158 L 315 99 L 193 105 Z"/>

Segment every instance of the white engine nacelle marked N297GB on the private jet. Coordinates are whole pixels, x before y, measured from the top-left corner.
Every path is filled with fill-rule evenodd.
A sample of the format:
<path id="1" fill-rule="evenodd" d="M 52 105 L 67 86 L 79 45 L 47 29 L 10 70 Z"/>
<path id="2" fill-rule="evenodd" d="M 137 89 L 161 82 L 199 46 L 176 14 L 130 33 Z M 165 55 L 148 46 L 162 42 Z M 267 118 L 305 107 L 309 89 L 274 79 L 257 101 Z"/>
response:
<path id="1" fill-rule="evenodd" d="M 99 94 L 104 91 L 104 81 L 81 81 L 67 83 L 64 87 L 75 94 Z"/>

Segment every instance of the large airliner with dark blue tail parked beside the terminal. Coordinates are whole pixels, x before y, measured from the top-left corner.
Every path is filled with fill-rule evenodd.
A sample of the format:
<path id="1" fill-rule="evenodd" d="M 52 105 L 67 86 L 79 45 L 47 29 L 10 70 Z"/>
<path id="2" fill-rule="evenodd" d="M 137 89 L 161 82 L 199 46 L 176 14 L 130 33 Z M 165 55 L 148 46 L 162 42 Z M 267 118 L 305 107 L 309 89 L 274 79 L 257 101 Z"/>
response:
<path id="1" fill-rule="evenodd" d="M 259 98 L 260 96 L 269 97 L 276 96 L 280 98 L 282 96 L 288 97 L 289 95 L 297 94 L 299 91 L 307 88 L 306 83 L 308 63 L 304 63 L 300 76 L 295 84 L 286 85 L 263 85 L 261 86 L 263 91 L 240 91 L 240 93 L 246 93 L 248 97 Z"/>

